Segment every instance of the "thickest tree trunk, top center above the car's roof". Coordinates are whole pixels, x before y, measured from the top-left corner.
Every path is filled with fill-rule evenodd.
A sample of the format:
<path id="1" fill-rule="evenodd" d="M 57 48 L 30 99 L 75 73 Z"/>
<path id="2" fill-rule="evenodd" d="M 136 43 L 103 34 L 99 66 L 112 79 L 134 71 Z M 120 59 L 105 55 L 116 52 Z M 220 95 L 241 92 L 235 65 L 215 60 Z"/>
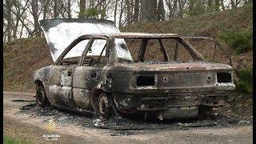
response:
<path id="1" fill-rule="evenodd" d="M 152 21 L 155 21 L 157 12 L 157 0 L 142 0 L 141 3 L 141 20 L 148 21 L 150 18 Z"/>

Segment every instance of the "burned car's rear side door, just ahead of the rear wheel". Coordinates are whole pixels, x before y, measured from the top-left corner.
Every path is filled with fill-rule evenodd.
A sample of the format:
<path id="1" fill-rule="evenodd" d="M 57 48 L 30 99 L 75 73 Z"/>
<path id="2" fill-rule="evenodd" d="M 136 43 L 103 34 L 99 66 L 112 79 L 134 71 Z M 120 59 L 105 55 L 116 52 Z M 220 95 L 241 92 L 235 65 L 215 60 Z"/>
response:
<path id="1" fill-rule="evenodd" d="M 89 44 L 84 60 L 74 69 L 73 75 L 73 98 L 78 108 L 91 110 L 90 95 L 98 85 L 102 68 L 106 65 L 107 40 L 94 38 Z M 90 63 L 90 58 L 95 62 Z M 88 61 L 89 60 L 89 61 Z"/>

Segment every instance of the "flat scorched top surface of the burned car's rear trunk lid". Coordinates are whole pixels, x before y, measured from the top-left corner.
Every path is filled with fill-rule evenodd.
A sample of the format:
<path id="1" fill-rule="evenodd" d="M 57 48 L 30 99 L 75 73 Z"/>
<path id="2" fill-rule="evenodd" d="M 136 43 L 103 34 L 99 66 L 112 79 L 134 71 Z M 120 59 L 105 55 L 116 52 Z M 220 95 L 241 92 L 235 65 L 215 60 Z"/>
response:
<path id="1" fill-rule="evenodd" d="M 225 70 L 232 71 L 233 67 L 210 62 L 173 62 L 173 63 L 145 63 L 134 62 L 118 64 L 115 67 L 118 70 L 132 70 L 132 71 L 206 71 L 206 70 Z"/>

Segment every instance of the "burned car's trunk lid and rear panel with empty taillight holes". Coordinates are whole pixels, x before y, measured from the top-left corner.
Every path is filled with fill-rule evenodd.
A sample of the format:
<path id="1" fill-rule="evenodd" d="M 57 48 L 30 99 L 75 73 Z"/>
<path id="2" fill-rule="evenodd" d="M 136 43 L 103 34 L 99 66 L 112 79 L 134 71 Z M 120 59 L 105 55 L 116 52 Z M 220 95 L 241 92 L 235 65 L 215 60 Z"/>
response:
<path id="1" fill-rule="evenodd" d="M 132 75 L 128 77 L 130 78 L 128 91 L 131 90 L 139 94 L 148 94 L 149 91 L 150 94 L 193 93 L 217 90 L 218 83 L 233 85 L 232 67 L 224 64 L 206 62 L 149 64 L 139 62 L 121 66 L 126 71 L 132 71 Z M 222 77 L 224 81 L 218 80 L 218 74 L 226 74 L 230 79 L 225 80 Z M 223 86 L 225 87 L 225 85 Z M 226 88 L 228 87 L 226 86 Z M 122 92 L 128 91 L 122 90 Z"/>

